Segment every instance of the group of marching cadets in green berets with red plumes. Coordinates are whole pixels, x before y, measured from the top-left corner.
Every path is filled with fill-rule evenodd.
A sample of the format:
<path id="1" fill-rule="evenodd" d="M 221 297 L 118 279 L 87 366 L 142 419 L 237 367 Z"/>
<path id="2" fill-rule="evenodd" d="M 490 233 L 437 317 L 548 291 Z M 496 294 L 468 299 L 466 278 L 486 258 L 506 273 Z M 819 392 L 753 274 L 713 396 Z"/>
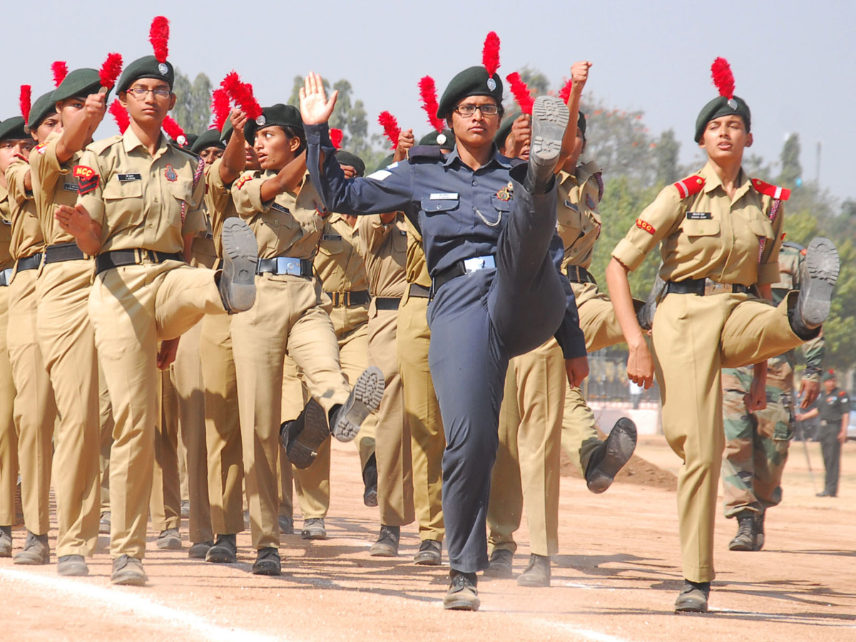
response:
<path id="1" fill-rule="evenodd" d="M 184 464 L 188 555 L 237 562 L 246 496 L 253 574 L 278 575 L 293 488 L 302 537 L 326 537 L 336 437 L 354 441 L 355 479 L 379 508 L 372 556 L 397 556 L 413 521 L 414 563 L 440 565 L 445 539 L 446 609 L 479 608 L 479 571 L 514 576 L 524 505 L 518 583 L 550 586 L 561 449 L 600 493 L 635 448 L 630 419 L 598 437 L 580 390 L 586 353 L 627 342 L 628 376 L 648 387 L 656 372 L 684 460 L 675 610 L 706 610 L 722 368 L 752 366 L 744 399 L 760 413 L 766 360 L 822 341 L 838 270 L 835 247 L 812 241 L 799 292 L 768 301 L 788 193 L 740 167 L 751 119 L 728 64 L 715 62 L 721 95 L 696 123 L 708 163 L 615 247 L 610 298 L 588 271 L 603 224 L 601 171 L 581 160 L 590 62 L 559 98 L 533 99 L 509 75 L 520 113 L 504 116 L 490 33 L 483 64 L 439 100 L 420 80 L 433 131 L 419 145 L 381 116 L 394 154 L 366 176 L 338 149 L 336 94 L 317 74 L 299 109 L 262 108 L 229 74 L 215 124 L 185 134 L 167 116 L 168 36 L 156 18 L 154 55 L 121 76 L 110 56 L 100 71 L 55 63 L 56 89 L 0 122 L 0 556 L 14 548 L 20 470 L 27 539 L 14 562 L 50 562 L 52 461 L 57 572 L 88 573 L 100 528 L 113 583 L 144 585 L 147 521 L 158 548 L 181 548 Z M 122 134 L 94 140 L 111 91 Z M 627 272 L 657 245 L 654 312 Z M 750 550 L 768 495 L 732 502 Z"/>

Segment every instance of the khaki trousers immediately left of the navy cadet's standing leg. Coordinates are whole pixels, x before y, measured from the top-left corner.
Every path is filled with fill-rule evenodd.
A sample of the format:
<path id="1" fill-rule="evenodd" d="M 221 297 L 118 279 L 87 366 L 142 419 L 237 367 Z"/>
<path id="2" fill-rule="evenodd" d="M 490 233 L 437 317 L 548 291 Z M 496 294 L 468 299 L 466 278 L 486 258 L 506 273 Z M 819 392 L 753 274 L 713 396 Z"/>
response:
<path id="1" fill-rule="evenodd" d="M 413 505 L 419 539 L 443 541 L 443 450 L 446 435 L 428 367 L 428 300 L 405 294 L 398 309 L 396 351 L 413 451 Z"/>

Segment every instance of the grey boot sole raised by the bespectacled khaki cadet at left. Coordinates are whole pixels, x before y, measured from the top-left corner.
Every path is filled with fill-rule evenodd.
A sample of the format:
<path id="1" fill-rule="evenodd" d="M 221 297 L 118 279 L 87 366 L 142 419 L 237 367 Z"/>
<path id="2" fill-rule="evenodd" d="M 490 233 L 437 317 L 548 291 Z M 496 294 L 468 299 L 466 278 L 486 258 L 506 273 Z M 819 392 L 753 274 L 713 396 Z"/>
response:
<path id="1" fill-rule="evenodd" d="M 229 312 L 244 312 L 256 302 L 256 267 L 259 243 L 253 230 L 240 218 L 223 223 L 223 272 L 221 288 Z"/>

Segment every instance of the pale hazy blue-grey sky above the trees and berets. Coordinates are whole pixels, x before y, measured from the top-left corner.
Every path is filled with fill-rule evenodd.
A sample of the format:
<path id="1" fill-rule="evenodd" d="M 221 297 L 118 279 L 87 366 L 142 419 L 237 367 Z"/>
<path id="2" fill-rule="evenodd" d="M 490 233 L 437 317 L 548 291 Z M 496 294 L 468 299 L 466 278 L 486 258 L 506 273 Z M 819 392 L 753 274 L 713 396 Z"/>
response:
<path id="1" fill-rule="evenodd" d="M 285 102 L 296 74 L 312 70 L 334 81 L 347 78 L 354 97 L 365 102 L 374 131 L 380 131 L 377 114 L 389 110 L 402 127 L 425 134 L 419 78 L 431 74 L 442 93 L 456 72 L 481 62 L 484 36 L 494 30 L 502 40 L 503 77 L 529 65 L 555 87 L 572 62 L 591 60 L 586 92 L 621 110 L 644 110 L 652 135 L 675 128 L 683 162 L 700 163 L 695 118 L 716 95 L 710 63 L 724 56 L 734 70 L 736 93 L 752 109 L 752 151 L 777 160 L 786 136 L 797 132 L 804 178 L 813 180 L 819 141 L 821 184 L 841 199 L 856 198 L 848 160 L 856 143 L 853 2 L 3 5 L 3 118 L 19 113 L 21 84 L 33 86 L 33 98 L 51 89 L 54 60 L 67 61 L 69 68 L 98 68 L 110 51 L 126 62 L 151 54 L 152 17 L 166 15 L 169 60 L 191 77 L 205 72 L 217 84 L 235 68 L 263 105 Z M 112 122 L 98 131 L 113 133 Z"/>

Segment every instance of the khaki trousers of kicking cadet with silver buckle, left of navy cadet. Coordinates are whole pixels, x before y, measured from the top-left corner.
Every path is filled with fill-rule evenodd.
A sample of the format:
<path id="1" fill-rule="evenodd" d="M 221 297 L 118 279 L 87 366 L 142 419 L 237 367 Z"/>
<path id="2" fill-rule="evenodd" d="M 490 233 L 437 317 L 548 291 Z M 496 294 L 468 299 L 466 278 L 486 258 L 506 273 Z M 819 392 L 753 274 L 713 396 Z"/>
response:
<path id="1" fill-rule="evenodd" d="M 330 408 L 348 399 L 336 334 L 321 307 L 316 279 L 257 276 L 256 303 L 232 319 L 238 377 L 244 475 L 253 547 L 279 545 L 279 427 L 282 364 L 289 354 L 306 376 L 312 396 Z"/>

